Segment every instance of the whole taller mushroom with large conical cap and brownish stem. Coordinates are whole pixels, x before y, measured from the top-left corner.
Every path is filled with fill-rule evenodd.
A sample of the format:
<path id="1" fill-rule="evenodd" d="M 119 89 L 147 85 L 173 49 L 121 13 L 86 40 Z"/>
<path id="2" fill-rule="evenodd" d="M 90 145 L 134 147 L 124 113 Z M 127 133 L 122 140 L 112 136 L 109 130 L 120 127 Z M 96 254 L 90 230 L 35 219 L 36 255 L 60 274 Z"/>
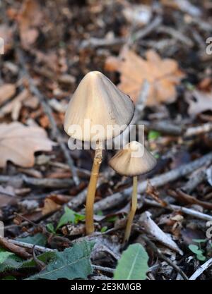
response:
<path id="1" fill-rule="evenodd" d="M 93 204 L 102 162 L 103 142 L 120 135 L 133 116 L 134 104 L 131 99 L 98 71 L 87 73 L 69 102 L 64 130 L 73 139 L 95 144 L 95 155 L 86 198 L 87 234 L 94 231 Z M 112 126 L 112 130 L 108 129 L 108 126 Z M 97 127 L 101 127 L 102 130 L 98 133 L 98 137 L 93 132 Z"/>

